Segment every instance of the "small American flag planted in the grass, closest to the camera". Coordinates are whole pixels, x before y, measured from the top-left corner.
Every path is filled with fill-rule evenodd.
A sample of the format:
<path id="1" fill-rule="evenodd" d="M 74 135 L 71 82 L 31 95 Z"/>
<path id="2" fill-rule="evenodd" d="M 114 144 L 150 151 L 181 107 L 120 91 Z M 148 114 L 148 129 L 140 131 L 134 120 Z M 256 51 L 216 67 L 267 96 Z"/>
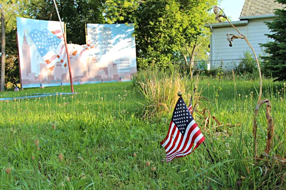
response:
<path id="1" fill-rule="evenodd" d="M 176 157 L 192 153 L 204 140 L 205 137 L 180 97 L 173 112 L 168 135 L 161 142 L 166 150 L 166 158 L 163 161 L 170 162 Z"/>

